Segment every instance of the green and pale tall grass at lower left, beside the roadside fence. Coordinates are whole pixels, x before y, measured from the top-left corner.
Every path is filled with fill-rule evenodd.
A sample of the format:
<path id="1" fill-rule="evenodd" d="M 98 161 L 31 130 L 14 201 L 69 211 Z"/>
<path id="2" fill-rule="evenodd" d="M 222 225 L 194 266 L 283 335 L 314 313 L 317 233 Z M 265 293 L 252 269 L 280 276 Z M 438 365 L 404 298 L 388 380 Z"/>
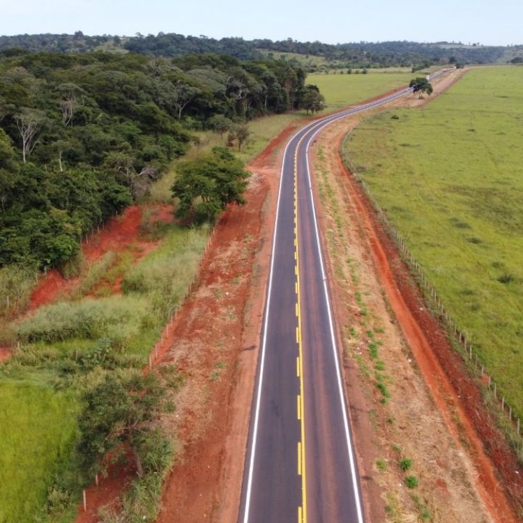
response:
<path id="1" fill-rule="evenodd" d="M 128 448 L 130 439 L 107 442 L 109 434 L 114 437 L 112 427 L 128 419 L 128 411 L 111 413 L 107 409 L 122 404 L 126 384 L 141 376 L 151 347 L 181 305 L 197 271 L 208 229 L 172 225 L 160 236 L 157 250 L 139 264 L 126 266 L 122 294 L 46 305 L 8 326 L 20 348 L 0 367 L 2 434 L 6 431 L 2 441 L 9 448 L 2 453 L 6 457 L 2 473 L 9 478 L 0 483 L 2 523 L 33 521 L 36 514 L 43 522 L 61 517 L 72 520 L 80 488 L 93 482 L 96 471 L 107 467 L 102 459 L 105 451 L 113 448 L 116 459 Z M 176 369 L 168 369 L 159 379 L 153 388 L 157 395 L 158 391 L 172 395 L 183 383 Z M 107 380 L 109 390 L 103 388 Z M 106 416 L 103 423 L 109 418 L 112 424 L 91 420 L 89 432 L 85 416 L 92 410 L 89 398 L 96 391 L 96 397 L 105 393 L 104 402 L 98 404 L 100 415 Z M 77 420 L 82 416 L 84 422 L 79 426 Z M 157 422 L 145 421 L 149 430 L 140 432 L 143 441 L 131 438 L 142 456 L 144 474 L 126 498 L 130 522 L 156 514 L 161 479 L 172 462 L 169 449 L 176 445 L 162 435 Z M 86 453 L 93 446 L 103 452 Z M 31 495 L 21 495 L 28 482 L 33 485 Z M 132 492 L 145 498 L 135 499 Z M 133 503 L 135 508 L 130 508 Z"/>

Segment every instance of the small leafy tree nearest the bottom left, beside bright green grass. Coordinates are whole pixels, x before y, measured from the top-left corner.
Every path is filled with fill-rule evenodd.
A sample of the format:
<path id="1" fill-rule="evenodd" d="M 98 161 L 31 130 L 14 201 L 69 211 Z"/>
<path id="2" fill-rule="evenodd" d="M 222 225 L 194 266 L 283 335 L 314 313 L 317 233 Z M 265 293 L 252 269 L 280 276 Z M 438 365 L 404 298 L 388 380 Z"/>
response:
<path id="1" fill-rule="evenodd" d="M 144 436 L 156 429 L 160 414 L 172 407 L 156 374 L 142 375 L 134 370 L 106 374 L 103 381 L 84 393 L 82 400 L 78 450 L 86 467 L 100 469 L 103 457 L 109 452 L 125 452 L 125 444 L 135 459 L 138 476 L 143 476 Z"/>

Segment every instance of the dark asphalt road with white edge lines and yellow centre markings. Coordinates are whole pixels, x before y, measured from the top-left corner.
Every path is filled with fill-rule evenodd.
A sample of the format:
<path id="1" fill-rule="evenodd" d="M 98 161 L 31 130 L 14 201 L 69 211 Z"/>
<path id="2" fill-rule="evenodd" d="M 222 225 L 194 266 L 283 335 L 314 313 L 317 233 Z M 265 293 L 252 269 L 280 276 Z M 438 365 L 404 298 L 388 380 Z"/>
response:
<path id="1" fill-rule="evenodd" d="M 305 126 L 282 160 L 239 523 L 363 523 L 308 148 L 333 121 Z"/>

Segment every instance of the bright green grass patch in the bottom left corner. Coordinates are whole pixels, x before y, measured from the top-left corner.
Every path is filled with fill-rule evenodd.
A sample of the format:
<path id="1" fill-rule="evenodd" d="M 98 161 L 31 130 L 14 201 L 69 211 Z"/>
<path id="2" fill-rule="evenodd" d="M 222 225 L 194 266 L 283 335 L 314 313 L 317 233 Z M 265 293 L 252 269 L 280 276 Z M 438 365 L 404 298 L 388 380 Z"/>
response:
<path id="1" fill-rule="evenodd" d="M 0 383 L 0 523 L 36 521 L 77 433 L 75 402 L 33 383 Z"/>

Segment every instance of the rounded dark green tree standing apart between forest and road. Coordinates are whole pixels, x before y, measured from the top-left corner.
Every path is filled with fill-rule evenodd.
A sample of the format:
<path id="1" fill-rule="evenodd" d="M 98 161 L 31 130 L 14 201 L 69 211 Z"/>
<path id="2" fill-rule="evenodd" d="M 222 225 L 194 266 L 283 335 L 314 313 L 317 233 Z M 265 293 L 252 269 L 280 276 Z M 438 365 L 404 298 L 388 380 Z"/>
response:
<path id="1" fill-rule="evenodd" d="M 179 199 L 176 215 L 180 218 L 212 221 L 228 204 L 245 204 L 243 192 L 250 173 L 225 147 L 181 163 L 177 171 L 172 193 Z"/>

